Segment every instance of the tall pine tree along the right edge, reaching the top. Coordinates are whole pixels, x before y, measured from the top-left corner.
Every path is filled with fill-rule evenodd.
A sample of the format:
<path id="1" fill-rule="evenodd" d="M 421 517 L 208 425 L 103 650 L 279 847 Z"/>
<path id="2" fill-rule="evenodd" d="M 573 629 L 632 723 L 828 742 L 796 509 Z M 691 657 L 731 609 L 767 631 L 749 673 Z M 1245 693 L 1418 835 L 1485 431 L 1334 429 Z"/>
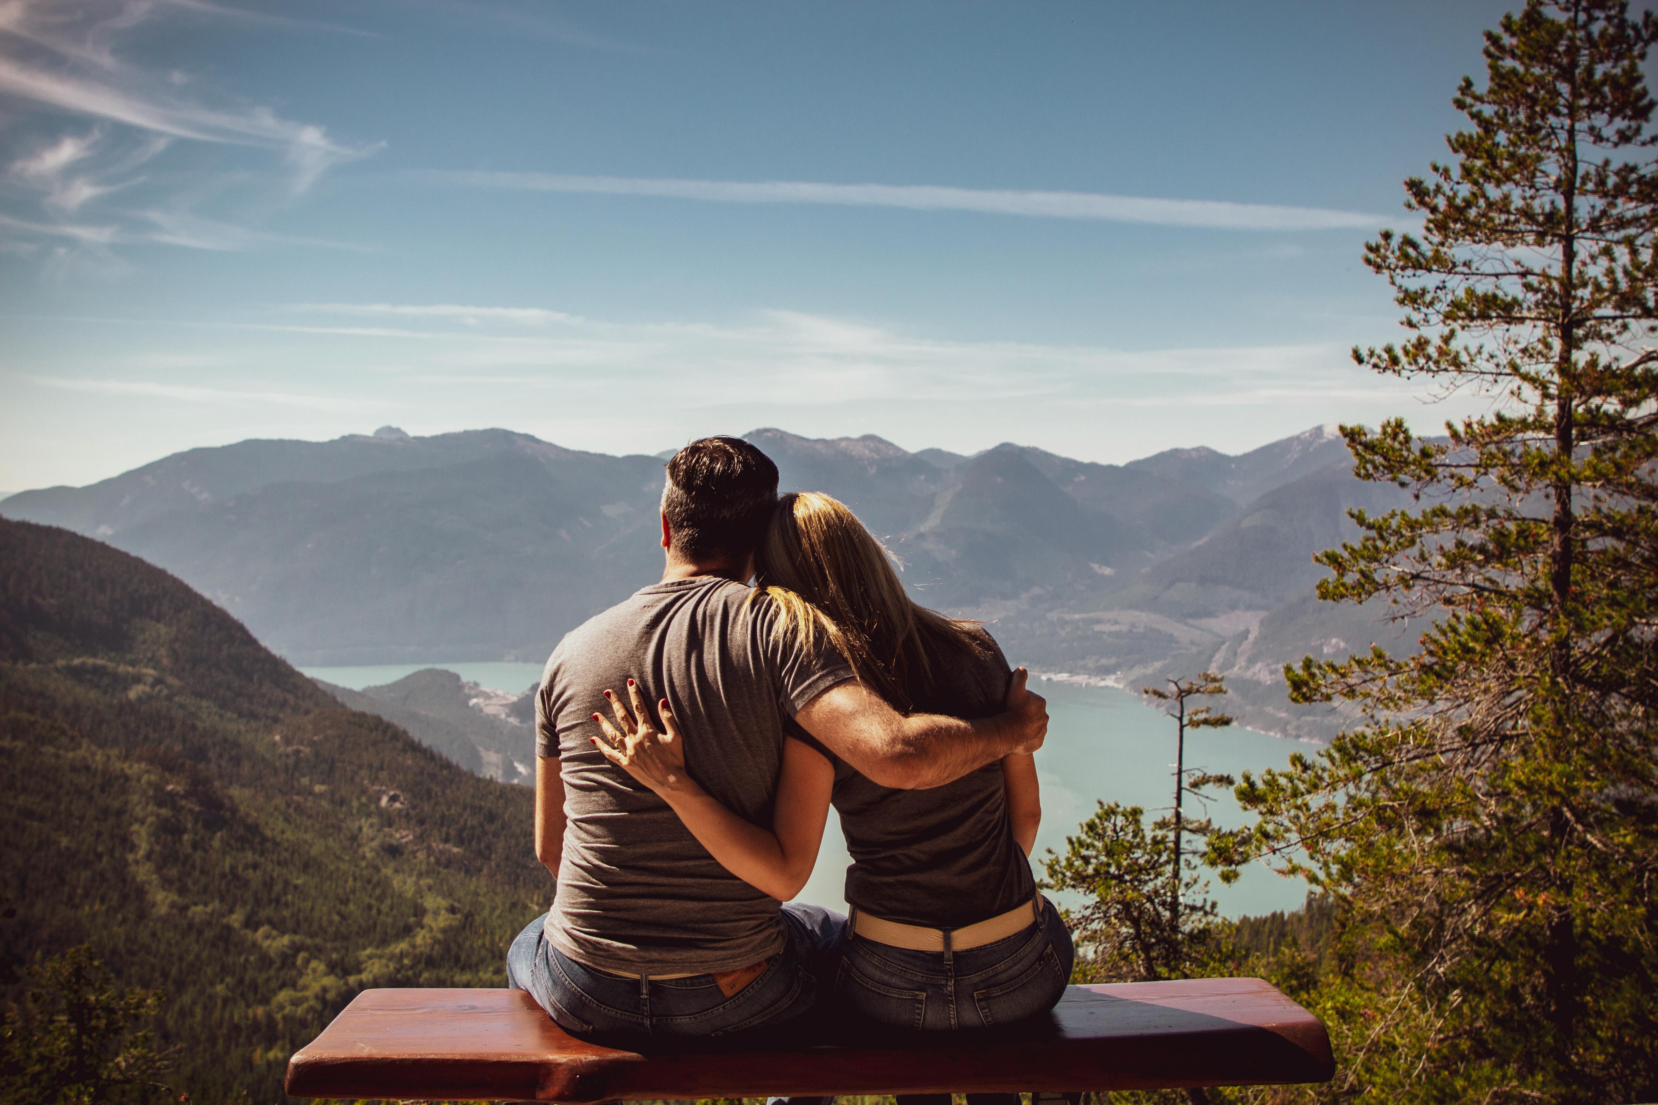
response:
<path id="1" fill-rule="evenodd" d="M 1416 505 L 1355 512 L 1320 596 L 1433 625 L 1414 656 L 1288 668 L 1295 701 L 1361 721 L 1239 797 L 1262 813 L 1252 847 L 1368 941 L 1399 1032 L 1373 1024 L 1353 1060 L 1419 1052 L 1376 1075 L 1389 1097 L 1658 1097 L 1658 373 L 1636 351 L 1658 320 L 1653 41 L 1620 0 L 1504 17 L 1486 86 L 1454 99 L 1472 124 L 1454 162 L 1406 181 L 1421 234 L 1366 247 L 1411 338 L 1355 358 L 1492 413 L 1442 439 L 1343 427 L 1355 472 Z"/>

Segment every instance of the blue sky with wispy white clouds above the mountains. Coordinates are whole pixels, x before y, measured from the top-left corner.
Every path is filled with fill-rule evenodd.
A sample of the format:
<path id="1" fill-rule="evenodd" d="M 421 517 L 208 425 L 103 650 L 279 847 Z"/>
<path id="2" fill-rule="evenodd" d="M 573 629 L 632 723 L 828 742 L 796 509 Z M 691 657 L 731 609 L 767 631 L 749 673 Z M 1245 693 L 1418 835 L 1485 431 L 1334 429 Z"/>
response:
<path id="1" fill-rule="evenodd" d="M 0 490 L 247 437 L 1099 462 L 1351 363 L 1510 5 L 0 0 Z"/>

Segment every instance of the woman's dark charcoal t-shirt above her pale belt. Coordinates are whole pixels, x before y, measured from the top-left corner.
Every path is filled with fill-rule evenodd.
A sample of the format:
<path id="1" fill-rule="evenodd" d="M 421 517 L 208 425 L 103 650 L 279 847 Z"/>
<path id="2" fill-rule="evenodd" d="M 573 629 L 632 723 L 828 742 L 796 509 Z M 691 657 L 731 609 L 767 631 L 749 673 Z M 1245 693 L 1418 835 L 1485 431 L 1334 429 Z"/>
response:
<path id="1" fill-rule="evenodd" d="M 915 711 L 952 717 L 1001 712 L 1008 661 L 983 635 L 987 653 L 933 654 L 935 686 Z M 1001 764 L 943 787 L 892 790 L 791 727 L 834 764 L 834 808 L 852 866 L 846 900 L 864 913 L 930 928 L 960 928 L 1028 903 L 1036 893 L 1030 861 L 1013 838 Z"/>

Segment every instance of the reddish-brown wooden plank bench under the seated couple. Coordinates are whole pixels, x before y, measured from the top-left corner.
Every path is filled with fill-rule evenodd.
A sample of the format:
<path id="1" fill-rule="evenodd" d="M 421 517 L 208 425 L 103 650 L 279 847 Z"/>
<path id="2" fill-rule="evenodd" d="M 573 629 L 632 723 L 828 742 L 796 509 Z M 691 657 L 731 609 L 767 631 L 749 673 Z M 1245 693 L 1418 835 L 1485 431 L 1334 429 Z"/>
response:
<path id="1" fill-rule="evenodd" d="M 638 1098 L 1154 1090 L 1326 1082 L 1318 1019 L 1260 979 L 1071 986 L 1008 1029 L 839 1044 L 567 1035 L 521 991 L 363 991 L 288 1060 L 293 1097 Z"/>

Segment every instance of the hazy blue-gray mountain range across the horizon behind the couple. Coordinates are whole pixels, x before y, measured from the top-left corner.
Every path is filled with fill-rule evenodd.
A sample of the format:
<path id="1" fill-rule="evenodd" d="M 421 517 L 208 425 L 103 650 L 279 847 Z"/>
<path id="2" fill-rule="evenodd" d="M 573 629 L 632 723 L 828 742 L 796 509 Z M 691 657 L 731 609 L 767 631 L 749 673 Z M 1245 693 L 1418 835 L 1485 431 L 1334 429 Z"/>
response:
<path id="1" fill-rule="evenodd" d="M 1038 669 L 1139 686 L 1217 668 L 1240 719 L 1318 737 L 1335 717 L 1283 701 L 1282 663 L 1403 631 L 1311 600 L 1311 555 L 1356 532 L 1346 509 L 1404 497 L 1353 479 L 1326 427 L 1242 456 L 1171 449 L 1122 466 L 1016 444 L 960 456 L 875 436 L 746 437 L 784 489 L 847 502 L 919 601 L 983 620 Z M 383 427 L 191 449 L 90 487 L 20 492 L 0 514 L 167 568 L 293 663 L 539 661 L 660 573 L 662 464 L 504 429 Z M 501 762 L 489 774 L 506 777 Z"/>

